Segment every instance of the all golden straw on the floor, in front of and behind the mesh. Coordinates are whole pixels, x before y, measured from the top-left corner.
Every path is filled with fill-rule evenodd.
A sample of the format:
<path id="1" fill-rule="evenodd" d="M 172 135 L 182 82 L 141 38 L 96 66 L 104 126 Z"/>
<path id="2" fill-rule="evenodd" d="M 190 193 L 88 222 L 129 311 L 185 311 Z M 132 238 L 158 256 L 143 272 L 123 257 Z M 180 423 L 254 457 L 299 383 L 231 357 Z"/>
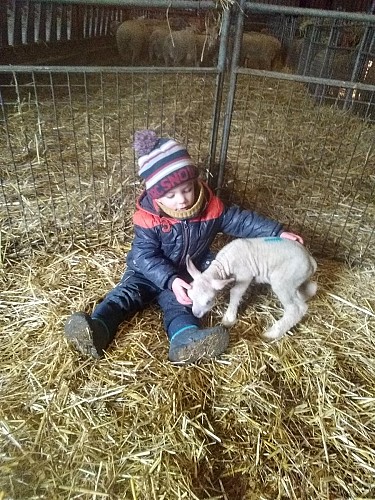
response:
<path id="1" fill-rule="evenodd" d="M 302 85 L 239 77 L 223 195 L 305 236 L 308 315 L 264 343 L 281 308 L 258 287 L 223 356 L 176 366 L 151 306 L 92 361 L 63 324 L 121 277 L 141 189 L 133 130 L 186 140 L 204 174 L 214 77 L 96 76 L 88 97 L 82 78 L 70 96 L 38 84 L 37 106 L 20 88 L 0 138 L 0 498 L 374 498 L 373 125 L 314 107 Z"/>

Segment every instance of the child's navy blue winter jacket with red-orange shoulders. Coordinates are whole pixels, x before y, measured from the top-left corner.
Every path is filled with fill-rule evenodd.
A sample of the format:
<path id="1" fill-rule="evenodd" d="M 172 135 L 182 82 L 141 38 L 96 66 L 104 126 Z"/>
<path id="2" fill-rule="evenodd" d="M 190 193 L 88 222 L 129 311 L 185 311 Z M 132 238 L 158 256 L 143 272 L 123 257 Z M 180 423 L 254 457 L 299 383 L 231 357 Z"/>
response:
<path id="1" fill-rule="evenodd" d="M 176 276 L 186 274 L 189 254 L 200 268 L 207 259 L 210 245 L 218 233 L 236 238 L 279 236 L 282 225 L 256 212 L 238 206 L 226 208 L 205 188 L 205 205 L 191 219 L 178 220 L 159 213 L 154 201 L 143 192 L 133 216 L 135 237 L 127 256 L 128 269 L 142 273 L 160 289 L 170 288 Z"/>

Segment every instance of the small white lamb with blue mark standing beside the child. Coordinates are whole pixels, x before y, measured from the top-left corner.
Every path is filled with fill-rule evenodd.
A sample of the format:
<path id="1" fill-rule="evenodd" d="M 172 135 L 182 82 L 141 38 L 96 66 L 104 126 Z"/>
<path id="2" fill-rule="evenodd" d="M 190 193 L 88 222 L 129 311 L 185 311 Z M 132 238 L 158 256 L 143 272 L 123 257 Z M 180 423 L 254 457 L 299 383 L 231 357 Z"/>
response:
<path id="1" fill-rule="evenodd" d="M 220 290 L 230 289 L 223 325 L 236 322 L 237 310 L 250 283 L 268 283 L 284 307 L 284 315 L 263 334 L 265 340 L 281 338 L 307 312 L 306 301 L 317 290 L 310 281 L 317 268 L 306 248 L 284 238 L 241 238 L 224 246 L 211 265 L 201 273 L 188 256 L 187 270 L 193 281 L 187 291 L 194 316 L 201 318 L 215 303 Z"/>

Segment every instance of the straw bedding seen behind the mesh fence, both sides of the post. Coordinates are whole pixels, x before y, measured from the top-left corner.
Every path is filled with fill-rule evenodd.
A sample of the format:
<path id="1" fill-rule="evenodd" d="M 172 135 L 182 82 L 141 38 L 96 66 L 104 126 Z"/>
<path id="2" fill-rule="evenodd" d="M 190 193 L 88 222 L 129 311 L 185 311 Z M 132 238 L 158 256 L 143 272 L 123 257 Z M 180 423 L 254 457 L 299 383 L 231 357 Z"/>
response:
<path id="1" fill-rule="evenodd" d="M 141 188 L 136 129 L 186 142 L 202 174 L 215 174 L 206 171 L 214 84 L 207 74 L 76 74 L 20 85 L 0 136 L 8 253 L 128 238 Z M 316 106 L 302 84 L 240 76 L 227 158 L 224 198 L 302 232 L 314 253 L 373 262 L 373 123 Z"/>

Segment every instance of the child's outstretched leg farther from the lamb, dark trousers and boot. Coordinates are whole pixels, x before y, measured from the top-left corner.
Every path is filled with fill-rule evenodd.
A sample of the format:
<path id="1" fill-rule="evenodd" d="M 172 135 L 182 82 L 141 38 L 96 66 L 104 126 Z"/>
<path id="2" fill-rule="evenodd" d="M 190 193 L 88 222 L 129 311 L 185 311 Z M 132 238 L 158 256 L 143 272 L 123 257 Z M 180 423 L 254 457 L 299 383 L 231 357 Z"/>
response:
<path id="1" fill-rule="evenodd" d="M 128 270 L 91 316 L 83 312 L 69 316 L 65 336 L 83 354 L 100 358 L 114 339 L 119 325 L 150 303 L 158 291 L 142 275 Z"/>

